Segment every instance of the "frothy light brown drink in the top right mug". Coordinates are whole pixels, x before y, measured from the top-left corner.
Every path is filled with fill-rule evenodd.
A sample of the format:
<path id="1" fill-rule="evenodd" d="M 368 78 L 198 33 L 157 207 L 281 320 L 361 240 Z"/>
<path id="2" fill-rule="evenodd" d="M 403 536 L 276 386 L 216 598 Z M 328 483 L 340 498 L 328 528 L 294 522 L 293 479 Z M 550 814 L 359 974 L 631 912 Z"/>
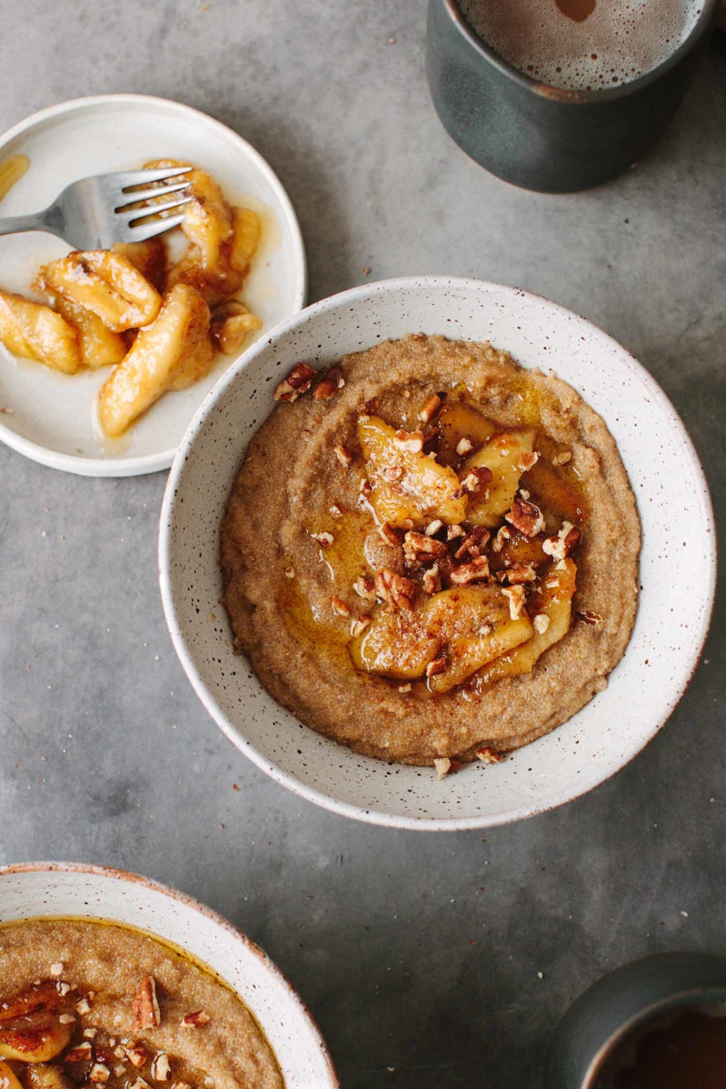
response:
<path id="1" fill-rule="evenodd" d="M 702 0 L 459 0 L 500 56 L 553 87 L 600 90 L 663 63 L 686 40 Z"/>

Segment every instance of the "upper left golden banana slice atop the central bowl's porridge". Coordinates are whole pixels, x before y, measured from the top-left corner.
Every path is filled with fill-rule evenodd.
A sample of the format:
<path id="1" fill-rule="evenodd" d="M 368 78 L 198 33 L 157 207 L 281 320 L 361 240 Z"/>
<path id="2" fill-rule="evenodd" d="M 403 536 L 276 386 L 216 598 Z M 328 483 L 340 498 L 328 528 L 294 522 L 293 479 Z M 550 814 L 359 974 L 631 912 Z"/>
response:
<path id="1" fill-rule="evenodd" d="M 378 416 L 361 416 L 358 437 L 373 485 L 370 502 L 382 523 L 404 527 L 410 521 L 420 528 L 432 518 L 465 519 L 467 499 L 456 473 L 423 453 L 420 432 L 396 432 Z"/>

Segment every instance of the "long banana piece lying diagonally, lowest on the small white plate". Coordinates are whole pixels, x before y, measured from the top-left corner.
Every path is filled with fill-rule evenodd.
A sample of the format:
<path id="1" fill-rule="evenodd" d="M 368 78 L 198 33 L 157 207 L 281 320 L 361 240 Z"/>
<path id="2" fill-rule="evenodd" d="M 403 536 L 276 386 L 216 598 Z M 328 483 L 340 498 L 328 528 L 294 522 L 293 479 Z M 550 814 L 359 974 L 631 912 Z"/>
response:
<path id="1" fill-rule="evenodd" d="M 121 435 L 184 374 L 189 356 L 209 340 L 209 307 L 193 287 L 177 284 L 159 317 L 139 330 L 125 359 L 98 394 L 98 418 L 108 436 Z M 197 366 L 198 363 L 195 363 Z"/>

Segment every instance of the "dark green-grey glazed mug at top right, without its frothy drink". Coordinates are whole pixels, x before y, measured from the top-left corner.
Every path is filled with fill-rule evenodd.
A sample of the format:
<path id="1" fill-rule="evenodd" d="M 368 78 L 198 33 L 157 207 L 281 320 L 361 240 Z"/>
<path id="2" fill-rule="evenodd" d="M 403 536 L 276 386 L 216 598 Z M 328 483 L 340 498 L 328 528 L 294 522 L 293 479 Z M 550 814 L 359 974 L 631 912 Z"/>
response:
<path id="1" fill-rule="evenodd" d="M 704 0 L 686 41 L 632 83 L 562 90 L 503 60 L 455 0 L 429 0 L 426 63 L 433 105 L 450 136 L 505 182 L 540 193 L 588 189 L 631 167 L 666 129 L 715 13 L 716 0 Z"/>

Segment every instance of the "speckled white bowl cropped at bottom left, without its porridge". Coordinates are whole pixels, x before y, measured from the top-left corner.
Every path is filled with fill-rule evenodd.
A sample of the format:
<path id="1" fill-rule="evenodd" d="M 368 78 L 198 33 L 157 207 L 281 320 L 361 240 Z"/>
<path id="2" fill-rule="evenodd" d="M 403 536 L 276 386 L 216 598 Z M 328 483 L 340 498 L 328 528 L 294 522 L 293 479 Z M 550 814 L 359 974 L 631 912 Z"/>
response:
<path id="1" fill-rule="evenodd" d="M 190 953 L 254 1014 L 286 1089 L 340 1089 L 318 1027 L 293 987 L 262 950 L 209 907 L 148 878 L 104 866 L 0 867 L 0 922 L 53 917 L 125 922 Z"/>

